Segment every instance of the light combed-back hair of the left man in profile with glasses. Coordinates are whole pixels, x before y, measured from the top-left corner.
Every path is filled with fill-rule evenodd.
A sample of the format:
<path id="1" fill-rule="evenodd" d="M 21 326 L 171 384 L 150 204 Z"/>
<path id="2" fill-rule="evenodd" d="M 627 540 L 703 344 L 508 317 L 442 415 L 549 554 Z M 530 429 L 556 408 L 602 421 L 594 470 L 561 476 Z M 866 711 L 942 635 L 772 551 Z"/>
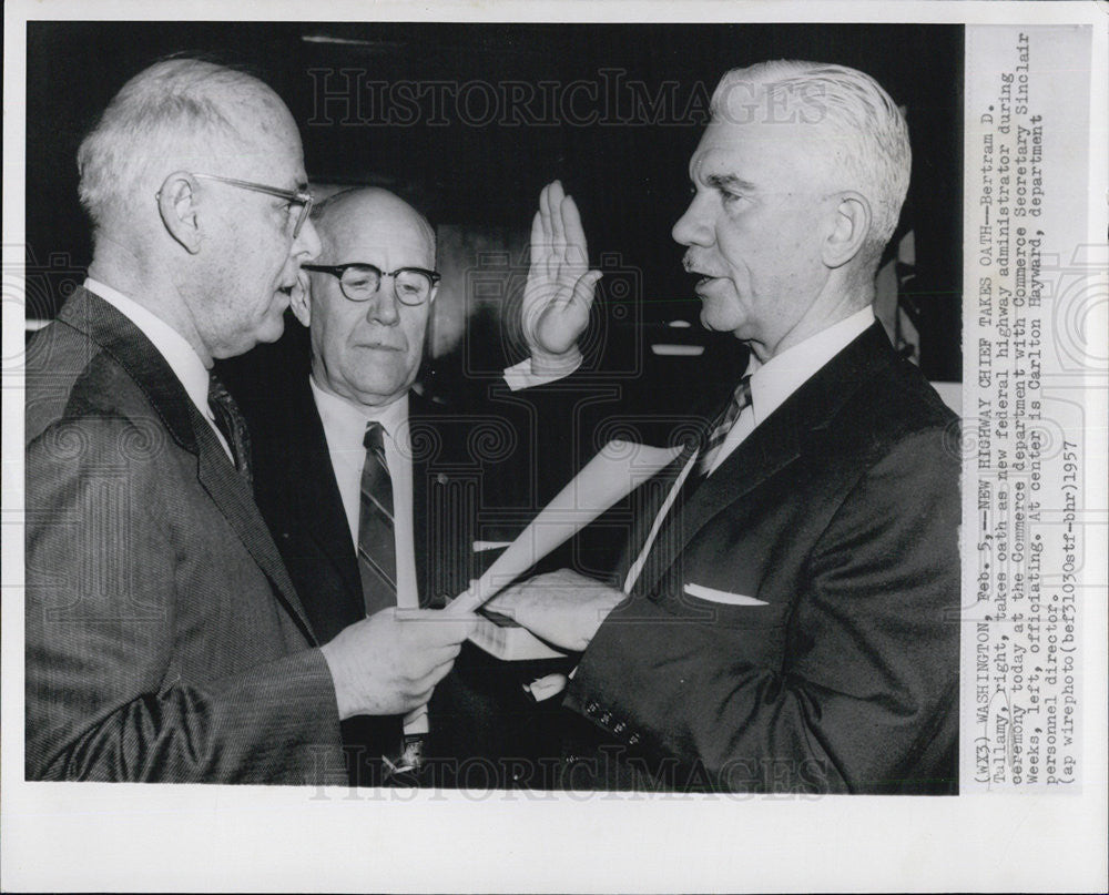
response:
<path id="1" fill-rule="evenodd" d="M 170 160 L 211 157 L 216 146 L 241 141 L 237 112 L 274 101 L 279 103 L 256 78 L 199 59 L 164 60 L 141 71 L 78 150 L 78 191 L 93 224 L 129 214 L 135 202 L 153 202 L 172 173 Z"/>

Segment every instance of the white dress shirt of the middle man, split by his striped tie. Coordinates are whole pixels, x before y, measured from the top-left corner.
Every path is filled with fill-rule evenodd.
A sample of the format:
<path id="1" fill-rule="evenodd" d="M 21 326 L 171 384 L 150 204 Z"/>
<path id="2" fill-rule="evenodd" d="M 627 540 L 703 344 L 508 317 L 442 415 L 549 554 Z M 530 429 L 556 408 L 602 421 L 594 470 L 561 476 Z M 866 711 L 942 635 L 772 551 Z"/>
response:
<path id="1" fill-rule="evenodd" d="M 358 550 L 358 517 L 362 513 L 362 469 L 366 461 L 368 423 L 380 423 L 385 430 L 385 462 L 393 481 L 393 530 L 397 553 L 397 606 L 419 606 L 416 578 L 416 542 L 413 533 L 413 455 L 408 431 L 408 397 L 384 407 L 367 407 L 324 391 L 308 377 L 312 397 L 324 424 L 327 452 L 339 486 L 339 497 L 350 529 L 352 548 Z"/>

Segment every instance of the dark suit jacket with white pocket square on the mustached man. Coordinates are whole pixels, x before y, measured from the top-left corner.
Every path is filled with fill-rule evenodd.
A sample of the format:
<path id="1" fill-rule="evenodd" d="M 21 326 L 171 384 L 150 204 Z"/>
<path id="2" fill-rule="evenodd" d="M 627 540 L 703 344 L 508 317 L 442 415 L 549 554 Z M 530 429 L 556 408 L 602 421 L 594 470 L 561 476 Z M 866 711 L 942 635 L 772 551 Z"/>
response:
<path id="1" fill-rule="evenodd" d="M 956 426 L 875 324 L 689 487 L 578 667 L 563 784 L 953 792 Z"/>

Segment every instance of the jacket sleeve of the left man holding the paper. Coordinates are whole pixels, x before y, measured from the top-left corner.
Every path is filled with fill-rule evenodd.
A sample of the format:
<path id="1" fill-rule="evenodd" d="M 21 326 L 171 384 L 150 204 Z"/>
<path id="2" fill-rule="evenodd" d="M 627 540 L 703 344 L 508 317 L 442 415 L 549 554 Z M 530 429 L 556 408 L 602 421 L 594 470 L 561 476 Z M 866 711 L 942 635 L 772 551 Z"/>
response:
<path id="1" fill-rule="evenodd" d="M 196 623 L 179 613 L 190 589 L 200 598 L 221 572 L 195 577 L 179 561 L 190 545 L 170 532 L 189 496 L 160 465 L 161 433 L 85 417 L 54 424 L 28 446 L 27 776 L 345 781 L 334 766 L 337 709 L 318 650 L 279 643 L 267 661 L 182 679 L 184 642 L 211 650 L 213 668 L 228 651 L 260 653 L 213 642 L 228 619 L 182 630 Z"/>

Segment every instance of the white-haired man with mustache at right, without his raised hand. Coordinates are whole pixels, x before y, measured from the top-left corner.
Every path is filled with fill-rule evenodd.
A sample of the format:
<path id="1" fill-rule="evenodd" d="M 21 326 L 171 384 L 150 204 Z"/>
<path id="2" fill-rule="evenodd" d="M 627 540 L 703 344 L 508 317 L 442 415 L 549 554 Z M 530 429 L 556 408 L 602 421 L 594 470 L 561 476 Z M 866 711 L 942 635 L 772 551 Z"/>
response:
<path id="1" fill-rule="evenodd" d="M 564 785 L 954 792 L 956 420 L 871 312 L 905 122 L 806 62 L 730 72 L 712 108 L 673 235 L 747 375 L 665 471 L 622 592 L 560 571 L 494 604 L 584 650 Z"/>

